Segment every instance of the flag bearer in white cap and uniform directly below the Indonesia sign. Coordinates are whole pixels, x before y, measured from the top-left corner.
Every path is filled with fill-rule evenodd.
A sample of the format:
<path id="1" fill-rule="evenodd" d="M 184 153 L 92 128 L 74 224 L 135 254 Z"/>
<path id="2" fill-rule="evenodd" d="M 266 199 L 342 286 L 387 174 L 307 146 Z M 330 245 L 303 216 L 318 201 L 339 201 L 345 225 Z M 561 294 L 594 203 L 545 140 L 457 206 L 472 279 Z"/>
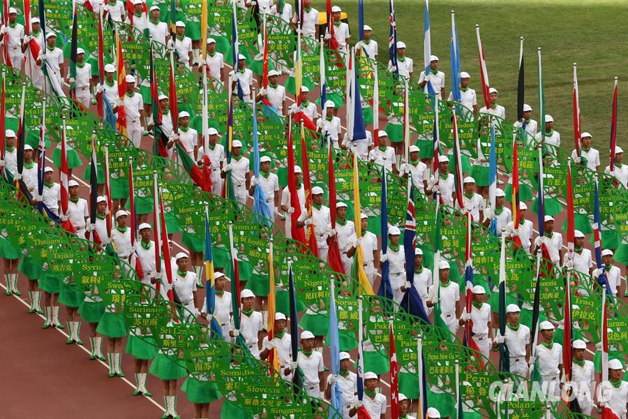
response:
<path id="1" fill-rule="evenodd" d="M 560 378 L 562 376 L 562 346 L 553 341 L 554 325 L 542 321 L 540 325 L 541 344 L 537 345 L 535 357 L 530 357 L 530 368 L 539 368 L 541 389 L 548 397 L 560 395 Z M 536 361 L 536 365 L 534 362 Z"/>

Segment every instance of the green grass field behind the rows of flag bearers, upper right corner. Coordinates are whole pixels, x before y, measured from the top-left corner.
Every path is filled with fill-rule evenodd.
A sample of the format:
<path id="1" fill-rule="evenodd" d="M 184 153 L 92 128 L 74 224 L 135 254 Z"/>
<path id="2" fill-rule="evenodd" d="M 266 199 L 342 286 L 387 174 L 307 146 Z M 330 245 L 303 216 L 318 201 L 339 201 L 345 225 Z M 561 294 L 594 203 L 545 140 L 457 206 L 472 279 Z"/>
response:
<path id="1" fill-rule="evenodd" d="M 356 43 L 357 0 L 334 0 L 349 13 L 351 41 Z M 408 45 L 414 59 L 414 77 L 423 66 L 423 0 L 395 0 L 398 41 Z M 388 61 L 389 8 L 387 0 L 364 0 L 364 20 L 373 27 L 379 43 L 379 57 Z M 313 1 L 324 10 L 324 2 Z M 619 78 L 618 145 L 628 146 L 628 2 L 625 0 L 448 0 L 430 1 L 432 54 L 440 58 L 447 75 L 449 66 L 450 10 L 456 11 L 461 68 L 471 75 L 471 87 L 481 99 L 479 60 L 475 24 L 480 25 L 491 86 L 500 91 L 498 103 L 506 117 L 516 119 L 519 37 L 525 37 L 525 102 L 539 119 L 537 47 L 541 47 L 546 113 L 554 118 L 561 145 L 574 147 L 572 124 L 572 75 L 578 63 L 581 122 L 583 131 L 593 135 L 593 147 L 600 149 L 602 167 L 608 164 L 613 80 Z M 623 99 L 623 101 L 622 101 Z M 481 106 L 481 105 L 480 105 Z M 628 147 L 624 147 L 628 148 Z"/>

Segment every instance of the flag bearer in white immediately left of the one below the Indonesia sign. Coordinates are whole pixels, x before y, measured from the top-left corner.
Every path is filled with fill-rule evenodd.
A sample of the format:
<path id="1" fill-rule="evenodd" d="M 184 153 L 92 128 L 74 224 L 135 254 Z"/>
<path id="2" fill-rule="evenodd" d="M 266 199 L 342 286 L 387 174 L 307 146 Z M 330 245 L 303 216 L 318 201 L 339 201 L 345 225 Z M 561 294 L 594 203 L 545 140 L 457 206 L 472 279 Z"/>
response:
<path id="1" fill-rule="evenodd" d="M 510 372 L 520 376 L 528 375 L 528 359 L 530 358 L 530 328 L 519 323 L 521 309 L 517 304 L 506 307 L 506 333 L 497 335 L 493 341 L 493 349 L 506 343 L 510 353 Z"/>

